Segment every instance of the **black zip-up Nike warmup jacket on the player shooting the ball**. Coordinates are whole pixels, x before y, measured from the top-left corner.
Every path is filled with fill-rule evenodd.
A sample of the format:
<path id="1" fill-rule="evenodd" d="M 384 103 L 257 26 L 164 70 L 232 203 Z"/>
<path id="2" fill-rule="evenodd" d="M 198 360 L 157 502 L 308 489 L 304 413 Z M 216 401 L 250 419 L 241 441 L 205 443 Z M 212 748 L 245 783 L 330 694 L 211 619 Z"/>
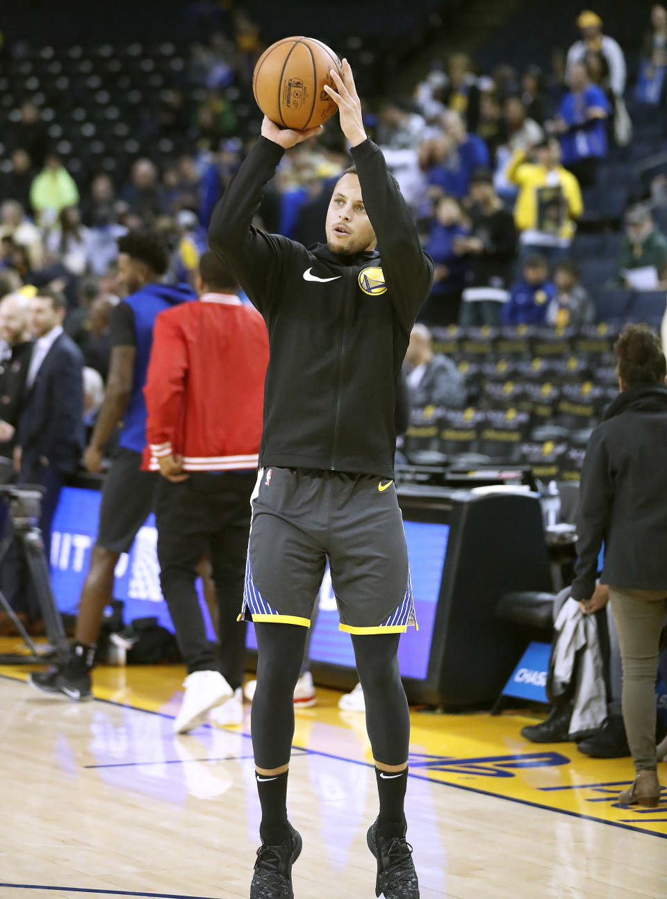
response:
<path id="1" fill-rule="evenodd" d="M 396 381 L 431 290 L 422 252 L 385 157 L 353 147 L 378 248 L 355 255 L 253 227 L 283 150 L 259 138 L 213 212 L 209 245 L 269 331 L 260 466 L 394 476 Z"/>

